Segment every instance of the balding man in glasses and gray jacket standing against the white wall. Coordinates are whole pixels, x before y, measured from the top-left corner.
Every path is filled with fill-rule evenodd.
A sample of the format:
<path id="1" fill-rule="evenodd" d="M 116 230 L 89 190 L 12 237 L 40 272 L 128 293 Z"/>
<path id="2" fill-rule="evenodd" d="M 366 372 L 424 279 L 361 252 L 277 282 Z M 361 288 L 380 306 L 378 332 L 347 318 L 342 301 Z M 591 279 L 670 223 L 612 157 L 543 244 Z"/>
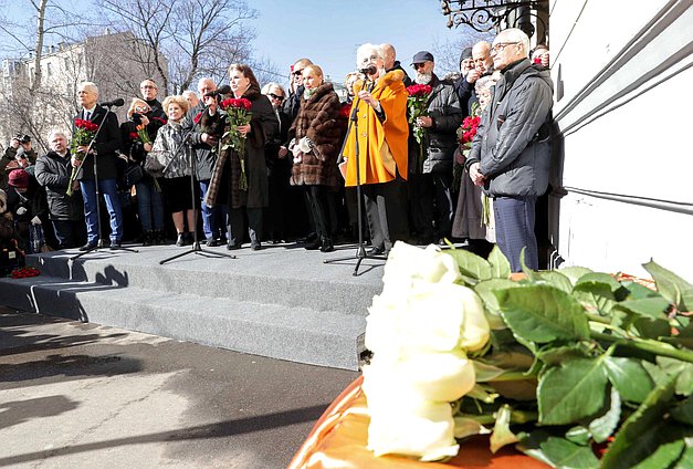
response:
<path id="1" fill-rule="evenodd" d="M 519 253 L 538 269 L 534 234 L 535 204 L 546 191 L 553 83 L 548 71 L 527 59 L 529 38 L 518 29 L 501 31 L 493 41 L 493 66 L 500 70 L 491 104 L 482 115 L 466 160 L 470 177 L 493 197 L 496 242 L 521 271 Z"/>

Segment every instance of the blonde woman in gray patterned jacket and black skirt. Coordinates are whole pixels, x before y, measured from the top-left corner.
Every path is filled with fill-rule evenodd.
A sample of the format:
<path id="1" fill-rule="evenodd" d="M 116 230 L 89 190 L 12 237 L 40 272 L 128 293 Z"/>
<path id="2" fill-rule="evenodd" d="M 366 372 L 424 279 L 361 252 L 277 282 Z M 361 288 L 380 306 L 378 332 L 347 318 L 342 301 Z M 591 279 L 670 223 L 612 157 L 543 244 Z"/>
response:
<path id="1" fill-rule="evenodd" d="M 182 96 L 168 96 L 164 100 L 162 106 L 168 123 L 159 129 L 151 152 L 147 155 L 145 169 L 153 177 L 164 177 L 161 180 L 164 196 L 178 232 L 176 246 L 186 246 L 192 242 L 196 219 L 196 207 L 192 206 L 190 198 L 192 148 L 190 145 L 181 145 L 185 134 L 181 121 L 188 112 L 188 101 Z M 197 184 L 193 186 L 198 187 Z M 198 199 L 196 196 L 195 200 Z M 185 229 L 183 220 L 188 222 L 188 231 Z"/>

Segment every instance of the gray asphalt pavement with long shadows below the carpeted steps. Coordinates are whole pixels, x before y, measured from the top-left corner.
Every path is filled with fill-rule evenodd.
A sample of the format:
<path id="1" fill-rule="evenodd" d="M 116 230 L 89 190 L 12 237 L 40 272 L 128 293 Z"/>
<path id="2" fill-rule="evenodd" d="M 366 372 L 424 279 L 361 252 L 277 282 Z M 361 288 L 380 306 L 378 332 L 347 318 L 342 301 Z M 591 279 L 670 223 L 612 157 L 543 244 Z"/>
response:
<path id="1" fill-rule="evenodd" d="M 357 376 L 0 308 L 0 467 L 285 468 Z"/>

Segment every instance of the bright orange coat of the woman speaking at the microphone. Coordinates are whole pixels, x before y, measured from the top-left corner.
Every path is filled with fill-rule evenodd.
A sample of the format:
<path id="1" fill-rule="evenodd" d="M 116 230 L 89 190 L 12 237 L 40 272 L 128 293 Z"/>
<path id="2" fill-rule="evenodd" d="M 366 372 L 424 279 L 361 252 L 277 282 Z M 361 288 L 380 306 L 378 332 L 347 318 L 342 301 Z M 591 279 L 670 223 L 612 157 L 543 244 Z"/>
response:
<path id="1" fill-rule="evenodd" d="M 385 122 L 380 122 L 376 112 L 368 104 L 358 101 L 358 145 L 360 160 L 360 183 L 378 184 L 393 180 L 396 174 L 391 173 L 382 160 L 382 152 L 389 148 L 395 159 L 397 171 L 402 178 L 407 178 L 407 138 L 409 125 L 407 124 L 407 88 L 402 79 L 405 73 L 400 70 L 388 72 L 376 82 L 370 92 L 372 97 L 380 102 L 385 112 Z M 364 82 L 356 82 L 354 91 L 358 93 Z M 355 101 L 356 102 L 356 101 Z M 344 147 L 344 157 L 347 158 L 346 186 L 356 186 L 356 142 L 354 134 L 356 127 L 349 123 L 347 143 Z"/>

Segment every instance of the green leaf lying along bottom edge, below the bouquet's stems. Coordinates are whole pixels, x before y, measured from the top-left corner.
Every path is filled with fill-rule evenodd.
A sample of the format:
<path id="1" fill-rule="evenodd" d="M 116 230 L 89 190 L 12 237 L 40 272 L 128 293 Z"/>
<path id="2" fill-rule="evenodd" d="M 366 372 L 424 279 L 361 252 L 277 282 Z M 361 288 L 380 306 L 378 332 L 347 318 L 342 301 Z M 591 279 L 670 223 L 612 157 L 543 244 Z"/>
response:
<path id="1" fill-rule="evenodd" d="M 533 431 L 518 445 L 521 451 L 558 468 L 596 468 L 597 457 L 589 446 L 576 445 L 545 431 Z"/>

